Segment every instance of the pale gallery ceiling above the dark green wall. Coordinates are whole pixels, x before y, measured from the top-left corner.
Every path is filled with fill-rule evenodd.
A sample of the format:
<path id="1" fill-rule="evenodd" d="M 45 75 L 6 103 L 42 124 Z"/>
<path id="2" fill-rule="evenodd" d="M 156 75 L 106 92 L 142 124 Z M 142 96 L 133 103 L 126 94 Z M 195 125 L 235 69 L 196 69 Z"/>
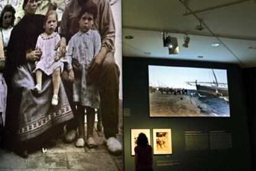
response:
<path id="1" fill-rule="evenodd" d="M 195 30 L 200 20 L 202 31 Z M 163 31 L 177 38 L 179 54 L 169 54 L 163 47 Z M 189 48 L 182 47 L 185 33 L 190 37 Z M 127 35 L 134 38 L 127 40 Z M 211 46 L 216 42 L 220 46 Z M 122 0 L 123 56 L 256 67 L 256 49 L 250 46 L 256 48 L 255 0 Z"/>

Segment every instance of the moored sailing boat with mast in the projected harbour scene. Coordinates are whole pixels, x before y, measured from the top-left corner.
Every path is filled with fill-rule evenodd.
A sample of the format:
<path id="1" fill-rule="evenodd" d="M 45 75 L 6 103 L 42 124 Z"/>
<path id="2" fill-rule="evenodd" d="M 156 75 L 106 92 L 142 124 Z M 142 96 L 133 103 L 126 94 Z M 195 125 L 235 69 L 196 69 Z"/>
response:
<path id="1" fill-rule="evenodd" d="M 200 96 L 228 96 L 228 83 L 218 83 L 214 70 L 212 69 L 215 81 L 187 81 L 186 83 L 197 87 L 197 92 Z"/>

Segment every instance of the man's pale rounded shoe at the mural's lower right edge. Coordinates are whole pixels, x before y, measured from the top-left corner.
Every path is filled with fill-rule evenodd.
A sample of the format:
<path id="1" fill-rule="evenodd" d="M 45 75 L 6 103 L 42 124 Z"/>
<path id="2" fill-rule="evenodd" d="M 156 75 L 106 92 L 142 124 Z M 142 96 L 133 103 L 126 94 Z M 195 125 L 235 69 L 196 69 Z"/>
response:
<path id="1" fill-rule="evenodd" d="M 108 151 L 111 154 L 119 155 L 122 154 L 122 144 L 115 138 L 115 137 L 109 137 L 108 140 L 104 140 L 106 146 L 108 147 Z"/>

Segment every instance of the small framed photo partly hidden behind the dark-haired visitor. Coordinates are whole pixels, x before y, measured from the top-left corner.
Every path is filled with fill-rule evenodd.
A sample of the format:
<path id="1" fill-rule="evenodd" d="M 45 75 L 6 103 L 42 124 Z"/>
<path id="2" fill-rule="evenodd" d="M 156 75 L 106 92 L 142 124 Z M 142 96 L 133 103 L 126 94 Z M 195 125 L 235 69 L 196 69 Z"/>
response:
<path id="1" fill-rule="evenodd" d="M 130 144 L 132 156 L 135 156 L 134 148 L 137 146 L 137 138 L 140 133 L 145 133 L 148 138 L 148 144 L 150 144 L 150 129 L 131 129 L 130 130 Z"/>

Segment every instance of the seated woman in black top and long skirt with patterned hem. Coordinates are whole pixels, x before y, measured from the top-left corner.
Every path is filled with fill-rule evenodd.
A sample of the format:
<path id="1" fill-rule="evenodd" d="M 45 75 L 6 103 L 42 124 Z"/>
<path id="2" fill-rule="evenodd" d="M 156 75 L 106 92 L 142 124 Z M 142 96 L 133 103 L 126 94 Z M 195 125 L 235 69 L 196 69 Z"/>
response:
<path id="1" fill-rule="evenodd" d="M 44 31 L 45 20 L 43 15 L 35 14 L 37 3 L 37 0 L 24 0 L 25 16 L 12 30 L 7 48 L 8 96 L 4 144 L 11 145 L 22 157 L 27 157 L 32 146 L 43 140 L 49 141 L 48 136 L 54 136 L 54 131 L 58 130 L 56 126 L 61 129 L 64 122 L 73 117 L 62 83 L 58 106 L 51 106 L 51 77 L 44 75 L 41 93 L 33 92 L 35 61 L 41 57 L 41 51 L 35 49 L 35 45 Z"/>

